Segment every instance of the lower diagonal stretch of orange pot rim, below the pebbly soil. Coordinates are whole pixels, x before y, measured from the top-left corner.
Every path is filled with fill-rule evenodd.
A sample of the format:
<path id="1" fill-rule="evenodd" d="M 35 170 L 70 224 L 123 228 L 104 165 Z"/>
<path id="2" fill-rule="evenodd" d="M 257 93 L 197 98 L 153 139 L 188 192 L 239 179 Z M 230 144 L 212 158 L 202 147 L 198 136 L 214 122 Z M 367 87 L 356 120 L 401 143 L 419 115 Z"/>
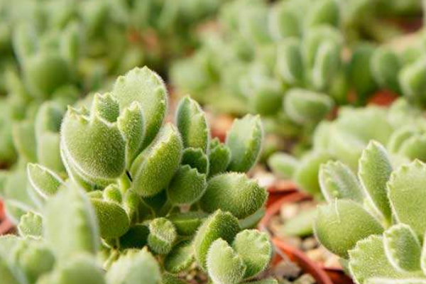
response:
<path id="1" fill-rule="evenodd" d="M 305 253 L 299 249 L 295 249 L 293 246 L 285 244 L 278 238 L 273 238 L 272 241 L 279 251 L 285 253 L 285 255 L 288 256 L 291 261 L 295 261 L 304 272 L 312 275 L 312 277 L 315 278 L 317 284 L 333 284 L 331 278 L 329 278 L 329 275 L 327 275 L 327 273 L 322 270 L 320 266 L 317 266 L 317 263 L 307 258 Z"/>

